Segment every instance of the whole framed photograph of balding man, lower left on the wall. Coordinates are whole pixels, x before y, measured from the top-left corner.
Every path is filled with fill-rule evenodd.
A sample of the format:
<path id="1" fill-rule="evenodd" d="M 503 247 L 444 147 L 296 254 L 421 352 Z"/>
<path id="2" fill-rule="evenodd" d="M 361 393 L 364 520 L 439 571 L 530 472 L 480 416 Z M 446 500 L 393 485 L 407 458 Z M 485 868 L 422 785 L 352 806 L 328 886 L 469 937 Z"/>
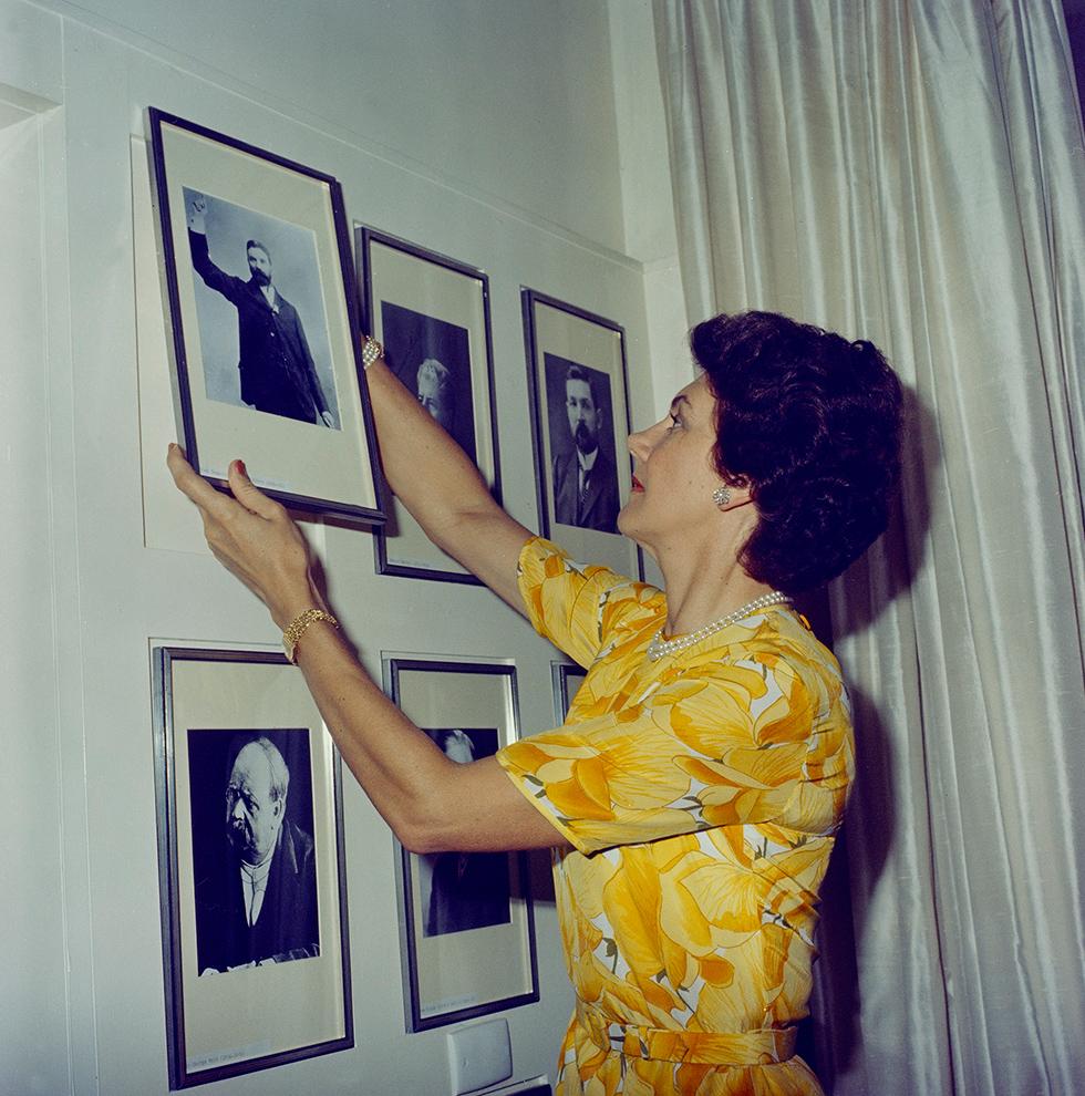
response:
<path id="1" fill-rule="evenodd" d="M 340 759 L 301 672 L 152 654 L 169 1087 L 353 1046 Z"/>

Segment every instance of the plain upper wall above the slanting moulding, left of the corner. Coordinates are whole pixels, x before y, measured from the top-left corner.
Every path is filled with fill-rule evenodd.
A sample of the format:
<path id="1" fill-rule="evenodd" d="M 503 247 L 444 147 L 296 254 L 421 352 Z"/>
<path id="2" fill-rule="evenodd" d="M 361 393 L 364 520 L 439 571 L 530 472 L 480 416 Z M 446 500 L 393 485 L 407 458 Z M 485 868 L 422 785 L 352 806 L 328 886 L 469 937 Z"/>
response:
<path id="1" fill-rule="evenodd" d="M 427 178 L 622 247 L 604 3 L 84 0 L 78 10 Z"/>

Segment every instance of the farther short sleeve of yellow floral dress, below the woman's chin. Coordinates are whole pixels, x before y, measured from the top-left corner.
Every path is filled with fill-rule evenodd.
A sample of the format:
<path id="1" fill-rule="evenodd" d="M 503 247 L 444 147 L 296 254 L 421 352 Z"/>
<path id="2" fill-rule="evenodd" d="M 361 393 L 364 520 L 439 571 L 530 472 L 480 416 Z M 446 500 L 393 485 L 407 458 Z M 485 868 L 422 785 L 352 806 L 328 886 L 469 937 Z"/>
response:
<path id="1" fill-rule="evenodd" d="M 574 562 L 541 537 L 524 545 L 516 573 L 531 625 L 582 666 L 629 611 L 660 597 L 655 587 L 607 567 Z"/>

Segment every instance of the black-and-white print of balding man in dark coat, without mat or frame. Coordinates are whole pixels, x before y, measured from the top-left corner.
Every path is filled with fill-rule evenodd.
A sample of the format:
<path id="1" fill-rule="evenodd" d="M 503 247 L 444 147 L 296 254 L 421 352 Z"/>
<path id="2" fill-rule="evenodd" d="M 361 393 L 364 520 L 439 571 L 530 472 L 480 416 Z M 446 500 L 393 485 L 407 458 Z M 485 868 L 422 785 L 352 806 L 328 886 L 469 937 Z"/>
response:
<path id="1" fill-rule="evenodd" d="M 309 731 L 188 731 L 200 975 L 320 954 Z"/>

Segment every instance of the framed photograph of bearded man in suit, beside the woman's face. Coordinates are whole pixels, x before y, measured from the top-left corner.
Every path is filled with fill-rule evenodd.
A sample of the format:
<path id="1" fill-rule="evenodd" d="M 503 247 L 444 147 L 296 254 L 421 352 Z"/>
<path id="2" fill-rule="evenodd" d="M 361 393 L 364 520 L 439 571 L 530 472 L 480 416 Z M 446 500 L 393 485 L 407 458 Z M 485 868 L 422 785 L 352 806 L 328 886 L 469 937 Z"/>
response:
<path id="1" fill-rule="evenodd" d="M 643 578 L 617 526 L 631 479 L 626 333 L 534 289 L 520 299 L 539 529 L 576 559 Z"/>

